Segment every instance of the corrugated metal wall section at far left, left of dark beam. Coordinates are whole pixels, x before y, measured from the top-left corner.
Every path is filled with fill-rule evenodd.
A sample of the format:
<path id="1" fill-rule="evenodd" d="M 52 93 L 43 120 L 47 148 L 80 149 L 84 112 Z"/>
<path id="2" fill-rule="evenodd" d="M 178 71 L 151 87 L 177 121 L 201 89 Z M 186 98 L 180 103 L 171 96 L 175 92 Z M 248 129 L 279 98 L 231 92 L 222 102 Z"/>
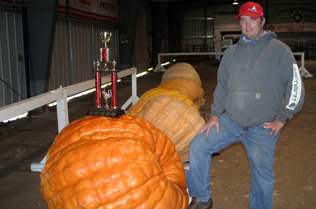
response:
<path id="1" fill-rule="evenodd" d="M 23 57 L 21 14 L 0 11 L 0 107 L 26 98 Z"/>

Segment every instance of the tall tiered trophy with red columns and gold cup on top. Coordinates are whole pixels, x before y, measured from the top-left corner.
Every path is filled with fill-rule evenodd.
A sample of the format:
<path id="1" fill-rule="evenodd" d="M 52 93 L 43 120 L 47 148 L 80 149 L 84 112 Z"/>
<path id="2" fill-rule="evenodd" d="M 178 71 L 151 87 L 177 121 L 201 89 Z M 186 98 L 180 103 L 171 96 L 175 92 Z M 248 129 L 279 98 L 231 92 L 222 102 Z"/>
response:
<path id="1" fill-rule="evenodd" d="M 96 70 L 95 72 L 95 108 L 89 110 L 87 115 L 94 116 L 111 116 L 119 117 L 125 114 L 125 111 L 118 107 L 117 101 L 117 73 L 119 70 L 115 69 L 116 61 L 113 59 L 111 62 L 110 49 L 107 44 L 110 42 L 111 33 L 104 32 L 100 33 L 104 47 L 100 48 L 100 60 L 97 59 L 95 62 Z M 104 64 L 103 69 L 101 70 L 100 63 Z M 107 67 L 108 63 L 112 63 L 113 69 L 109 70 Z M 111 90 L 106 92 L 105 89 L 101 91 L 101 73 L 110 73 L 111 74 Z M 102 106 L 102 97 L 105 101 L 105 106 Z M 109 107 L 107 99 L 112 97 L 112 105 Z"/>

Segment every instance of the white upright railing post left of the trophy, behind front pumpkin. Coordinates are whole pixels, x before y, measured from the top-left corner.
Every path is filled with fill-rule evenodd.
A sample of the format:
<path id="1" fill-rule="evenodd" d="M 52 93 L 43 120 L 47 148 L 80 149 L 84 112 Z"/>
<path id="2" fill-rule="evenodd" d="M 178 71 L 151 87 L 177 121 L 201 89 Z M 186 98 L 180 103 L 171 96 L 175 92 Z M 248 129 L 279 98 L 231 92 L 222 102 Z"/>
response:
<path id="1" fill-rule="evenodd" d="M 67 89 L 63 89 L 63 97 L 57 99 L 58 133 L 69 124 Z"/>

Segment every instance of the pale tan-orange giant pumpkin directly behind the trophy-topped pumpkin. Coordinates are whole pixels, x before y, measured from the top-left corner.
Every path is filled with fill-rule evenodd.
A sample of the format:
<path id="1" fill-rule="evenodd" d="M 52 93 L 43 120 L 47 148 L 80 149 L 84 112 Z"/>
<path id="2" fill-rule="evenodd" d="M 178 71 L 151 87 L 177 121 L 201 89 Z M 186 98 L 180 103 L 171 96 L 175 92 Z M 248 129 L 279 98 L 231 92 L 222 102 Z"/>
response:
<path id="1" fill-rule="evenodd" d="M 167 95 L 147 98 L 136 103 L 126 115 L 142 117 L 162 130 L 173 142 L 180 161 L 189 161 L 189 144 L 205 124 L 193 107 Z"/>

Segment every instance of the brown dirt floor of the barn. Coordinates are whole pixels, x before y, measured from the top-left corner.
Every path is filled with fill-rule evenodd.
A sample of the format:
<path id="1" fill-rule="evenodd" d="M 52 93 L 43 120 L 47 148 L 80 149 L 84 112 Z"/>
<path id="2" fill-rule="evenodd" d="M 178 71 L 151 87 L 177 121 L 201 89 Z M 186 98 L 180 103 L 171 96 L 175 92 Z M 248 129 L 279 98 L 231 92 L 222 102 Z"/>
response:
<path id="1" fill-rule="evenodd" d="M 218 60 L 191 62 L 199 73 L 206 104 L 205 118 L 210 116 L 212 94 L 216 86 Z M 300 66 L 300 61 L 298 61 Z M 316 59 L 305 60 L 305 68 L 314 74 L 303 78 L 305 103 L 293 119 L 288 120 L 275 152 L 274 208 L 316 208 Z M 137 95 L 160 84 L 163 72 L 150 72 L 137 79 Z M 119 106 L 131 96 L 131 80 L 119 86 Z M 84 117 L 94 106 L 94 93 L 69 101 L 70 122 Z M 58 134 L 56 106 L 32 120 L 19 119 L 0 127 L 0 208 L 47 208 L 40 194 L 40 173 L 30 165 L 40 162 Z M 213 208 L 248 208 L 250 170 L 245 149 L 235 143 L 213 158 L 211 188 Z"/>

